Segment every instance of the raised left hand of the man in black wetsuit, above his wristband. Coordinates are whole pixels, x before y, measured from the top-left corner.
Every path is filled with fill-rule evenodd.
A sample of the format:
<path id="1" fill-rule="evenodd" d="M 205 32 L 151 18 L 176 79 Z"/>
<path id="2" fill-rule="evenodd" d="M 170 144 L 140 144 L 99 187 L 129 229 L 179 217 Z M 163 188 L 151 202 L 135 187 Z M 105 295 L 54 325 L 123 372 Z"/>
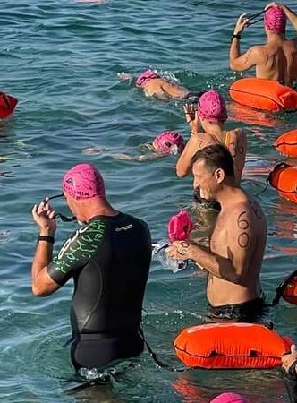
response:
<path id="1" fill-rule="evenodd" d="M 55 214 L 55 210 L 52 210 L 47 201 L 34 205 L 32 217 L 39 227 L 41 236 L 55 236 Z"/>

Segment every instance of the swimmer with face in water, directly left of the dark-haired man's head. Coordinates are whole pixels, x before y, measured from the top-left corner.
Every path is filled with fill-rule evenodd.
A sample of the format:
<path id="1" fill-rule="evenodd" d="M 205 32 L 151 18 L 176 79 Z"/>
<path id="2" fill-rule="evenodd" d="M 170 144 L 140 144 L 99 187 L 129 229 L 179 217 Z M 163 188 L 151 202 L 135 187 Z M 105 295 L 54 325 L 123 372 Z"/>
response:
<path id="1" fill-rule="evenodd" d="M 182 152 L 184 148 L 184 140 L 182 134 L 176 133 L 171 130 L 157 134 L 152 143 L 143 144 L 139 147 L 140 150 L 146 151 L 141 155 L 128 155 L 128 154 L 111 154 L 108 149 L 100 147 L 89 147 L 82 150 L 83 154 L 98 154 L 108 152 L 108 156 L 113 159 L 123 159 L 126 161 L 149 161 L 152 159 L 160 159 L 166 155 L 177 155 Z"/>

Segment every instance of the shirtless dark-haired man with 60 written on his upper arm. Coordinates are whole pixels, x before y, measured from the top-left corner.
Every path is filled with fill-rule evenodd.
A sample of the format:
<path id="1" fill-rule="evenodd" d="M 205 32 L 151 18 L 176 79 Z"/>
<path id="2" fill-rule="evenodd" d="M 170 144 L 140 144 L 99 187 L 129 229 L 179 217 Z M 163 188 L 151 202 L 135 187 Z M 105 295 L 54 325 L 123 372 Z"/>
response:
<path id="1" fill-rule="evenodd" d="M 259 273 L 267 222 L 259 203 L 236 184 L 233 158 L 222 144 L 192 158 L 194 188 L 221 205 L 209 246 L 185 241 L 166 249 L 169 257 L 196 262 L 208 271 L 207 322 L 256 322 L 265 310 Z"/>

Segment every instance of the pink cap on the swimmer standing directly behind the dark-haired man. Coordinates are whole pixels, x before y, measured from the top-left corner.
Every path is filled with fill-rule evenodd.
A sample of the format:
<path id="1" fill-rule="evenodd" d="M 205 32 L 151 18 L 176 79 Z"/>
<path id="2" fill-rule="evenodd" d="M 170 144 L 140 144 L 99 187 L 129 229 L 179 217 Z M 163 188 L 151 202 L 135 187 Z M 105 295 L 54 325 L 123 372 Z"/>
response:
<path id="1" fill-rule="evenodd" d="M 198 101 L 199 117 L 209 122 L 225 122 L 227 112 L 224 98 L 215 90 L 205 92 Z"/>

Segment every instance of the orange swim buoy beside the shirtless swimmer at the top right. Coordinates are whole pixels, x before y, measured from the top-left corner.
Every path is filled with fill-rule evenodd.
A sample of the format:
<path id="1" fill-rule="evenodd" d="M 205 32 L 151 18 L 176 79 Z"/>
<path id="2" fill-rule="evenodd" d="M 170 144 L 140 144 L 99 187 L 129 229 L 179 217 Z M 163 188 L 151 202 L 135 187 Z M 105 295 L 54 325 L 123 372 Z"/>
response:
<path id="1" fill-rule="evenodd" d="M 297 91 L 277 81 L 247 77 L 234 81 L 230 97 L 239 104 L 272 112 L 297 109 Z"/>

